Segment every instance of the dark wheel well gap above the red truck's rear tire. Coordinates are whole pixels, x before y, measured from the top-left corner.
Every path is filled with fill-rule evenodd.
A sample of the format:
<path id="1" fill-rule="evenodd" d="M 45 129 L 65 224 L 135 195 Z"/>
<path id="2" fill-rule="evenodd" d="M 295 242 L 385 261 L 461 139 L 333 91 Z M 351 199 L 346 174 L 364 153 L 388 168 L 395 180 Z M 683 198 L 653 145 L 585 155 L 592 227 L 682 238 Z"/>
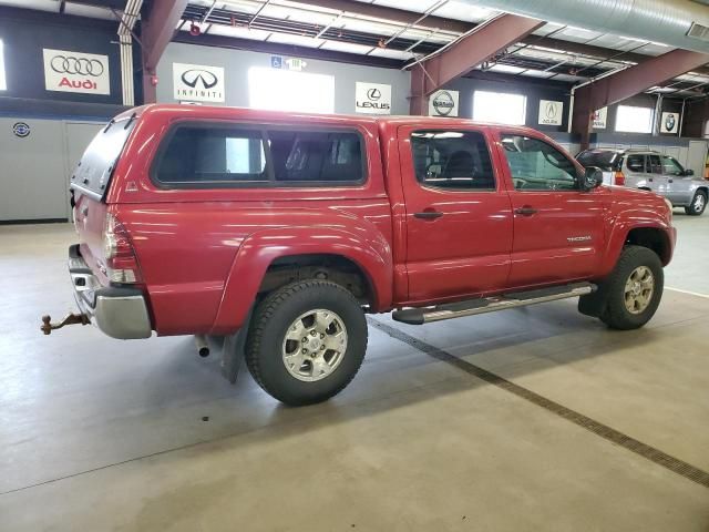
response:
<path id="1" fill-rule="evenodd" d="M 343 286 L 362 304 L 370 307 L 374 290 L 364 270 L 341 255 L 314 254 L 278 257 L 268 266 L 258 289 L 259 296 L 281 286 L 306 279 L 329 279 Z"/>

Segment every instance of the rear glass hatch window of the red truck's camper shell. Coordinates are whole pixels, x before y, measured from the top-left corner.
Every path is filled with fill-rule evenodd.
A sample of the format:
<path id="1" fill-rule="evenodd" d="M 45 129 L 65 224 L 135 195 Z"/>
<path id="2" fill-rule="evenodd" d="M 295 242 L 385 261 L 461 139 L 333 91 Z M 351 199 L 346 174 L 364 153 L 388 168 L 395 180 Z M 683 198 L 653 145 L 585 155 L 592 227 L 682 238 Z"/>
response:
<path id="1" fill-rule="evenodd" d="M 111 121 L 94 136 L 71 176 L 71 188 L 88 192 L 103 200 L 109 190 L 113 167 L 135 124 L 135 114 Z"/>

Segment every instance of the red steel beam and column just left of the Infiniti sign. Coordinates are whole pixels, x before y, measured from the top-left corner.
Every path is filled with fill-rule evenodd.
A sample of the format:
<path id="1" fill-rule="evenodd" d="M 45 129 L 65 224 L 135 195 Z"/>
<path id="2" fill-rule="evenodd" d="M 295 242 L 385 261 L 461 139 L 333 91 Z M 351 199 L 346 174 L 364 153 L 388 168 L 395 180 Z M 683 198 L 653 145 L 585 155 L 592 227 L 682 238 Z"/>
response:
<path id="1" fill-rule="evenodd" d="M 152 9 L 142 23 L 141 40 L 143 43 L 143 100 L 153 103 L 156 100 L 155 69 L 175 28 L 182 19 L 188 0 L 153 0 Z"/>

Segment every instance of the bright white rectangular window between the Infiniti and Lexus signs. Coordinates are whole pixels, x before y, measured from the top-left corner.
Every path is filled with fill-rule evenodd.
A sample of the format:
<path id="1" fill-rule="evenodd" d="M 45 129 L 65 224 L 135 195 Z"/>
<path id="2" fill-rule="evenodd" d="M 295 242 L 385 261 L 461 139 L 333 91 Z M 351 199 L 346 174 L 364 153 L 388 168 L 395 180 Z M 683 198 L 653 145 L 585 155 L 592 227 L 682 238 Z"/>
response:
<path id="1" fill-rule="evenodd" d="M 255 109 L 333 113 L 335 78 L 251 66 L 248 70 L 248 100 Z"/>

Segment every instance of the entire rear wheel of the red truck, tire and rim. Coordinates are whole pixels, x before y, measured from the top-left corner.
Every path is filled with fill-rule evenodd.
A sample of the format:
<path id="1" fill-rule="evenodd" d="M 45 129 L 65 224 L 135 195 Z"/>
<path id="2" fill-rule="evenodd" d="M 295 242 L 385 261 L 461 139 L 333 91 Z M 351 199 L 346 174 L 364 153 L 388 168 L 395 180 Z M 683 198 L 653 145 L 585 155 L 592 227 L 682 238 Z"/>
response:
<path id="1" fill-rule="evenodd" d="M 246 362 L 258 385 L 291 406 L 321 402 L 357 375 L 367 320 L 347 289 L 328 280 L 294 283 L 256 308 Z"/>

